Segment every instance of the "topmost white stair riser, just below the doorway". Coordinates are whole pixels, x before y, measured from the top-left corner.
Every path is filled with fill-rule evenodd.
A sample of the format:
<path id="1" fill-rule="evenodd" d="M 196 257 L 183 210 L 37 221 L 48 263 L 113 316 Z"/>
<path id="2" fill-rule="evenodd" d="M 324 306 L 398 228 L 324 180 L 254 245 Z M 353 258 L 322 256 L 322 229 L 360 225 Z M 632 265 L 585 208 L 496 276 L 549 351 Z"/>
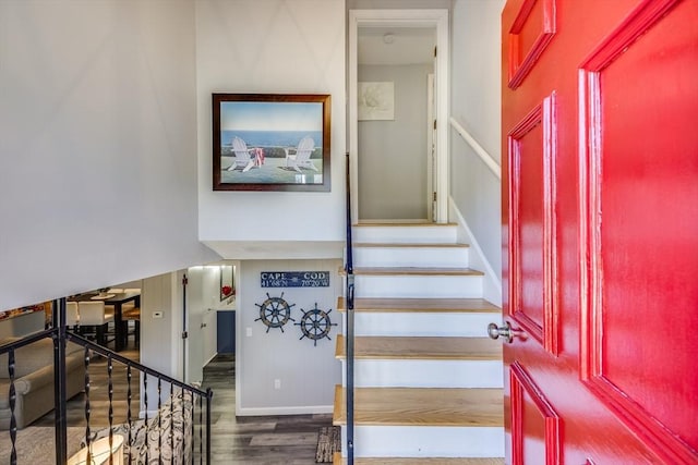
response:
<path id="1" fill-rule="evenodd" d="M 455 225 L 448 227 L 360 227 L 351 230 L 354 243 L 437 243 L 454 244 L 457 240 Z"/>

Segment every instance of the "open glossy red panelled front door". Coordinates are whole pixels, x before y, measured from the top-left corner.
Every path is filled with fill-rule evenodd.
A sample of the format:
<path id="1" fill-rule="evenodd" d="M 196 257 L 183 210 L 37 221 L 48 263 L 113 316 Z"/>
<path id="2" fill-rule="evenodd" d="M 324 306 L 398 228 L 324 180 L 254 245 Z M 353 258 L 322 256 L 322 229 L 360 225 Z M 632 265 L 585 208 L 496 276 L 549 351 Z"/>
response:
<path id="1" fill-rule="evenodd" d="M 509 0 L 502 44 L 507 463 L 698 463 L 698 0 Z"/>

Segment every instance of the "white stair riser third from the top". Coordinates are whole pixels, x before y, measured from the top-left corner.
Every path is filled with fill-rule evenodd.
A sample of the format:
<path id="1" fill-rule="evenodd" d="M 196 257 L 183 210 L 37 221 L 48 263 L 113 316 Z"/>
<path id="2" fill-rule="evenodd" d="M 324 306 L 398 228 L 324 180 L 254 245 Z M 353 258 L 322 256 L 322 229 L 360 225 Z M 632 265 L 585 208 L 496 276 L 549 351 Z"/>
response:
<path id="1" fill-rule="evenodd" d="M 354 296 L 477 298 L 482 296 L 482 277 L 357 274 Z"/>

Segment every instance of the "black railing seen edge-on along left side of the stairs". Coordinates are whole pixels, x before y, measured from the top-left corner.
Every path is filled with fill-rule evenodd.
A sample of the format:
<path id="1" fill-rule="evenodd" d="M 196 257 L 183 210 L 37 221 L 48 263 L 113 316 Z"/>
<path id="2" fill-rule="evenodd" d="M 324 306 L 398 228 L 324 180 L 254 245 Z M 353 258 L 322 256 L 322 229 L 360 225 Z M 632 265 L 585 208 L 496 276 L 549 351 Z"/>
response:
<path id="1" fill-rule="evenodd" d="M 347 306 L 347 364 L 346 364 L 346 408 L 347 408 L 347 462 L 353 465 L 353 245 L 351 242 L 351 175 L 349 168 L 349 152 L 347 152 L 347 252 L 345 271 L 347 274 L 346 306 Z"/>

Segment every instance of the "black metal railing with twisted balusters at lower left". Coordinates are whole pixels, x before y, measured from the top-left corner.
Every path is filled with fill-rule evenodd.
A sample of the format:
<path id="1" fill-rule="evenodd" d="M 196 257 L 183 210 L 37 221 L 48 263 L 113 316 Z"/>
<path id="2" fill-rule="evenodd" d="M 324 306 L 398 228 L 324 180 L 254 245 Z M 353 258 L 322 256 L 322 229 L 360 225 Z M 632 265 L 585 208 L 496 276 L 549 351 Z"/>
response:
<path id="1" fill-rule="evenodd" d="M 9 374 L 9 406 L 10 406 L 10 463 L 17 463 L 17 423 L 15 417 L 16 406 L 16 350 L 39 340 L 50 338 L 53 341 L 53 388 L 55 388 L 55 417 L 56 417 L 56 463 L 63 464 L 68 461 L 68 415 L 67 415 L 67 347 L 68 342 L 76 344 L 83 350 L 84 363 L 84 419 L 85 436 L 83 443 L 87 450 L 86 463 L 91 463 L 91 443 L 97 439 L 106 438 L 109 449 L 113 444 L 115 436 L 121 433 L 124 444 L 124 463 L 140 463 L 139 454 L 145 454 L 145 463 L 157 461 L 157 463 L 210 463 L 210 401 L 213 392 L 200 390 L 192 386 L 178 381 L 167 375 L 160 374 L 137 362 L 129 359 L 104 346 L 88 341 L 80 334 L 65 329 L 65 299 L 61 298 L 53 303 L 52 329 L 37 332 L 29 336 L 13 341 L 10 344 L 0 346 L 0 355 L 8 354 Z M 74 347 L 73 352 L 76 352 Z M 108 425 L 100 427 L 99 431 L 93 431 L 91 417 L 93 405 L 91 404 L 91 391 L 93 389 L 94 375 L 99 375 L 96 366 L 93 367 L 93 359 L 96 357 L 106 358 L 107 376 L 107 419 Z M 124 400 L 115 400 L 113 395 L 113 374 L 115 364 L 124 369 L 127 392 Z M 144 418 L 134 418 L 132 414 L 133 401 L 133 374 L 140 372 L 143 381 L 143 409 Z M 148 377 L 156 380 L 157 386 L 157 418 L 148 418 Z M 169 387 L 169 389 L 168 389 Z M 163 401 L 165 400 L 165 403 Z M 125 423 L 115 425 L 115 404 L 125 401 Z M 140 405 L 139 405 L 140 408 Z M 122 417 L 122 412 L 117 412 Z M 196 418 L 198 415 L 198 418 Z M 196 435 L 198 432 L 198 435 Z M 136 436 L 134 436 L 136 435 Z M 157 442 L 151 442 L 157 441 Z M 165 446 L 164 448 L 164 441 Z M 136 450 L 134 444 L 137 444 Z M 181 444 L 181 445 L 180 445 Z M 32 446 L 32 444 L 19 444 Z M 177 450 L 176 450 L 177 445 Z M 169 448 L 169 449 L 168 449 Z M 181 448 L 181 450 L 180 450 Z M 149 456 L 154 451 L 158 456 Z M 167 451 L 164 453 L 163 451 Z M 143 453 L 142 453 L 143 452 Z M 168 456 L 169 455 L 169 456 Z M 184 460 L 186 457 L 186 460 Z M 111 463 L 111 456 L 109 457 Z"/>

